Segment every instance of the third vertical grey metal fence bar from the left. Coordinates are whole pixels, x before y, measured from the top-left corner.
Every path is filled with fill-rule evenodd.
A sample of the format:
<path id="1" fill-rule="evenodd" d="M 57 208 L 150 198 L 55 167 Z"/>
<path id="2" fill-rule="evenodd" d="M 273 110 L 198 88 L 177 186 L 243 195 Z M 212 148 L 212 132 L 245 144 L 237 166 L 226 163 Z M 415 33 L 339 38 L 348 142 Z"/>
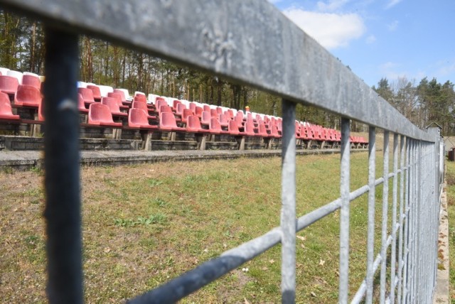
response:
<path id="1" fill-rule="evenodd" d="M 349 188 L 350 188 L 350 121 L 341 119 L 340 174 L 340 284 L 338 303 L 348 303 L 349 291 Z"/>

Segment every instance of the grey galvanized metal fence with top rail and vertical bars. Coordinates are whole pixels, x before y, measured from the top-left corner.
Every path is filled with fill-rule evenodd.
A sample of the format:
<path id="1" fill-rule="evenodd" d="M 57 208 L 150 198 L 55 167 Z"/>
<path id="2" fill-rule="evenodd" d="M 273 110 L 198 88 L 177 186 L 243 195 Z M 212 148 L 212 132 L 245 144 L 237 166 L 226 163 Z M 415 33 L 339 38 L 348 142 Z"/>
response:
<path id="1" fill-rule="evenodd" d="M 139 295 L 131 303 L 181 299 L 280 242 L 282 302 L 294 303 L 296 232 L 338 209 L 340 303 L 377 300 L 373 299 L 375 276 L 380 277 L 380 303 L 432 301 L 443 168 L 439 129 L 421 131 L 412 125 L 268 1 L 2 0 L 1 6 L 41 19 L 46 28 L 45 218 L 51 303 L 83 301 L 76 99 L 80 33 L 197 67 L 283 98 L 281 226 Z M 299 218 L 296 103 L 314 105 L 342 117 L 340 197 Z M 368 185 L 352 191 L 350 119 L 370 128 Z M 377 129 L 385 134 L 384 172 L 379 179 L 375 179 Z M 375 190 L 380 184 L 381 248 L 375 252 Z M 367 271 L 357 293 L 348 295 L 350 202 L 366 193 Z M 389 207 L 391 219 L 387 219 Z"/>

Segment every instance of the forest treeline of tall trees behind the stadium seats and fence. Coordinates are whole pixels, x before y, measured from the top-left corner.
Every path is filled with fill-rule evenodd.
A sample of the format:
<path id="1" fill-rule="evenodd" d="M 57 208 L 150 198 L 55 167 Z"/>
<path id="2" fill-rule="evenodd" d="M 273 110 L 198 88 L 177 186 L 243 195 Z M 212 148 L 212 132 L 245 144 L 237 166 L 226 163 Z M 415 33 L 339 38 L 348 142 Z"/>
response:
<path id="1" fill-rule="evenodd" d="M 83 82 L 235 109 L 248 105 L 253 112 L 281 116 L 281 99 L 258 89 L 88 36 L 80 36 L 79 45 L 79 78 Z M 1 67 L 45 75 L 44 52 L 41 23 L 0 10 Z M 451 82 L 441 84 L 427 77 L 418 83 L 406 77 L 393 82 L 382 78 L 373 89 L 420 128 L 435 122 L 442 126 L 444 135 L 455 133 L 455 92 Z M 338 116 L 301 104 L 296 119 L 334 129 L 339 129 L 340 124 Z M 353 129 L 366 131 L 363 124 L 355 122 Z"/>

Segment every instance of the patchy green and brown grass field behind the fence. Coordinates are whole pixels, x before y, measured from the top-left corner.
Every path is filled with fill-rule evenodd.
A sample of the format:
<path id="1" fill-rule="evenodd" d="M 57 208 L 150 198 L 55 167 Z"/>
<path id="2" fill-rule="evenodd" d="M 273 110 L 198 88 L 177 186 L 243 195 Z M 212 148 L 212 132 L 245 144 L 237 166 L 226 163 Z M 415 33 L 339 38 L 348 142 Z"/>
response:
<path id="1" fill-rule="evenodd" d="M 299 216 L 339 196 L 339 159 L 297 157 Z M 368 153 L 352 155 L 351 190 L 368 182 L 367 163 Z M 279 225 L 280 158 L 93 167 L 81 175 L 87 303 L 122 302 Z M 45 303 L 43 172 L 0 173 L 0 180 L 0 300 Z M 378 252 L 382 187 L 376 197 Z M 366 202 L 363 195 L 351 204 L 350 296 L 365 276 Z M 335 212 L 299 232 L 299 303 L 336 303 L 338 226 Z M 275 246 L 182 302 L 281 302 L 280 250 Z"/>

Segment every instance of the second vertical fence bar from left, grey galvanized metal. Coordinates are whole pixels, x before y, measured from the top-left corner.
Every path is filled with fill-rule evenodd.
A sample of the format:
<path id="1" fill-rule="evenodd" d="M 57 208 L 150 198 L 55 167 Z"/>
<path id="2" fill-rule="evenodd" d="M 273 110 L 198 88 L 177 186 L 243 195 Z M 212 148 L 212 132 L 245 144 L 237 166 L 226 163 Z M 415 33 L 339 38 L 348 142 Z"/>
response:
<path id="1" fill-rule="evenodd" d="M 283 99 L 282 137 L 282 303 L 296 296 L 296 104 Z"/>

